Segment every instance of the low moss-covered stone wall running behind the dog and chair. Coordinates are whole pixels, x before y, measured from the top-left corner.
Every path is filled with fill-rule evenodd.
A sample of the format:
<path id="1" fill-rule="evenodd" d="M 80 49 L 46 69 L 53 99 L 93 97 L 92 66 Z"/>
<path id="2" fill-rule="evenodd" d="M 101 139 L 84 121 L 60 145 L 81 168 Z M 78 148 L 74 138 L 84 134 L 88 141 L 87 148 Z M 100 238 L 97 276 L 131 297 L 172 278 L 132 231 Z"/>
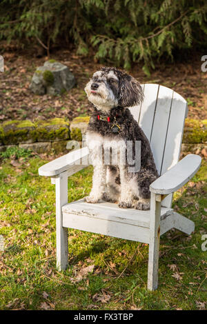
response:
<path id="1" fill-rule="evenodd" d="M 68 141 L 82 141 L 90 117 L 50 119 L 48 121 L 5 121 L 0 125 L 0 152 L 19 145 L 37 153 L 66 152 Z M 207 148 L 207 120 L 186 119 L 182 151 Z"/>

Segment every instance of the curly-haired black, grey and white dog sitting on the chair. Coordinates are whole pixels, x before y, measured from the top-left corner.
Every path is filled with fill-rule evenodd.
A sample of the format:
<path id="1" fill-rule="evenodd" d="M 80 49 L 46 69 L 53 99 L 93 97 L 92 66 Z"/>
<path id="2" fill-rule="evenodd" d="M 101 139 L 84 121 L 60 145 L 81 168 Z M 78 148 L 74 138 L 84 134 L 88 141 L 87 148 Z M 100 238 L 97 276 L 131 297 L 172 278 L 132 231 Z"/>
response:
<path id="1" fill-rule="evenodd" d="M 144 98 L 139 82 L 117 68 L 101 68 L 93 74 L 85 91 L 95 107 L 86 132 L 94 173 L 92 190 L 85 200 L 88 203 L 118 201 L 119 207 L 148 210 L 149 186 L 158 173 L 148 139 L 127 108 L 138 105 Z M 115 159 L 114 163 L 103 163 L 107 150 L 111 159 L 112 150 L 119 148 L 120 157 L 128 141 L 133 144 L 131 161 L 121 163 L 121 159 Z M 141 163 L 139 170 L 130 172 L 136 141 L 141 143 Z"/>

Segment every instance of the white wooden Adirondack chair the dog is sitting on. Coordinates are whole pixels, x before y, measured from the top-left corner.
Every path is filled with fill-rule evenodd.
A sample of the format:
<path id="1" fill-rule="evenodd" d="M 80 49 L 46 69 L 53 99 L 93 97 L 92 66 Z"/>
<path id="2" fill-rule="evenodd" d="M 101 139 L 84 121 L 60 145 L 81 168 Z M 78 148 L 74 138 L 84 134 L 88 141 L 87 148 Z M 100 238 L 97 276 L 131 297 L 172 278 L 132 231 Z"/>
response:
<path id="1" fill-rule="evenodd" d="M 159 179 L 150 185 L 150 210 L 121 209 L 114 203 L 68 203 L 68 176 L 86 168 L 77 163 L 86 159 L 88 148 L 61 156 L 39 168 L 56 185 L 57 268 L 68 266 L 68 227 L 149 244 L 148 289 L 157 289 L 159 236 L 172 227 L 190 234 L 195 224 L 171 208 L 172 194 L 199 170 L 201 158 L 189 154 L 178 162 L 186 100 L 157 84 L 142 85 L 145 99 L 140 107 L 130 108 L 144 130 L 154 154 Z"/>

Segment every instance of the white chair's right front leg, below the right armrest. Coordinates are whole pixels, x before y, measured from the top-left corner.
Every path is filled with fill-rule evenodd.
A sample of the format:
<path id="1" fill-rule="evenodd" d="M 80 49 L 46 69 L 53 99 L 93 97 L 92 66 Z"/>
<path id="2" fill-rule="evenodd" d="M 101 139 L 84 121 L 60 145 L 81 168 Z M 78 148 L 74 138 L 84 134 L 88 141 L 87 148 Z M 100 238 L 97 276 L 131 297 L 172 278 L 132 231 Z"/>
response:
<path id="1" fill-rule="evenodd" d="M 156 194 L 151 193 L 148 290 L 156 290 L 158 285 L 160 211 L 161 201 L 156 201 Z"/>

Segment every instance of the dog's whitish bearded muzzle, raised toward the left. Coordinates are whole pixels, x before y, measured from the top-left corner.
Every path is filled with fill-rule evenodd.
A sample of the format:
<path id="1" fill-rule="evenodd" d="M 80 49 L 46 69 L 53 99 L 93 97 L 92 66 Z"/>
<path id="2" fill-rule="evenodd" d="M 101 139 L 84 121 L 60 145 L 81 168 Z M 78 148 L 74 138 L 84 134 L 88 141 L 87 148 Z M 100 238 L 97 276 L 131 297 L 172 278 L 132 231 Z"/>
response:
<path id="1" fill-rule="evenodd" d="M 115 98 L 115 95 L 113 94 L 112 90 L 110 90 L 110 88 L 106 87 L 105 83 L 100 83 L 99 88 L 96 90 L 96 92 L 91 92 L 91 84 L 92 81 L 89 81 L 87 83 L 85 91 L 88 100 L 96 106 L 97 110 L 107 112 L 111 108 L 118 105 L 118 101 Z"/>

